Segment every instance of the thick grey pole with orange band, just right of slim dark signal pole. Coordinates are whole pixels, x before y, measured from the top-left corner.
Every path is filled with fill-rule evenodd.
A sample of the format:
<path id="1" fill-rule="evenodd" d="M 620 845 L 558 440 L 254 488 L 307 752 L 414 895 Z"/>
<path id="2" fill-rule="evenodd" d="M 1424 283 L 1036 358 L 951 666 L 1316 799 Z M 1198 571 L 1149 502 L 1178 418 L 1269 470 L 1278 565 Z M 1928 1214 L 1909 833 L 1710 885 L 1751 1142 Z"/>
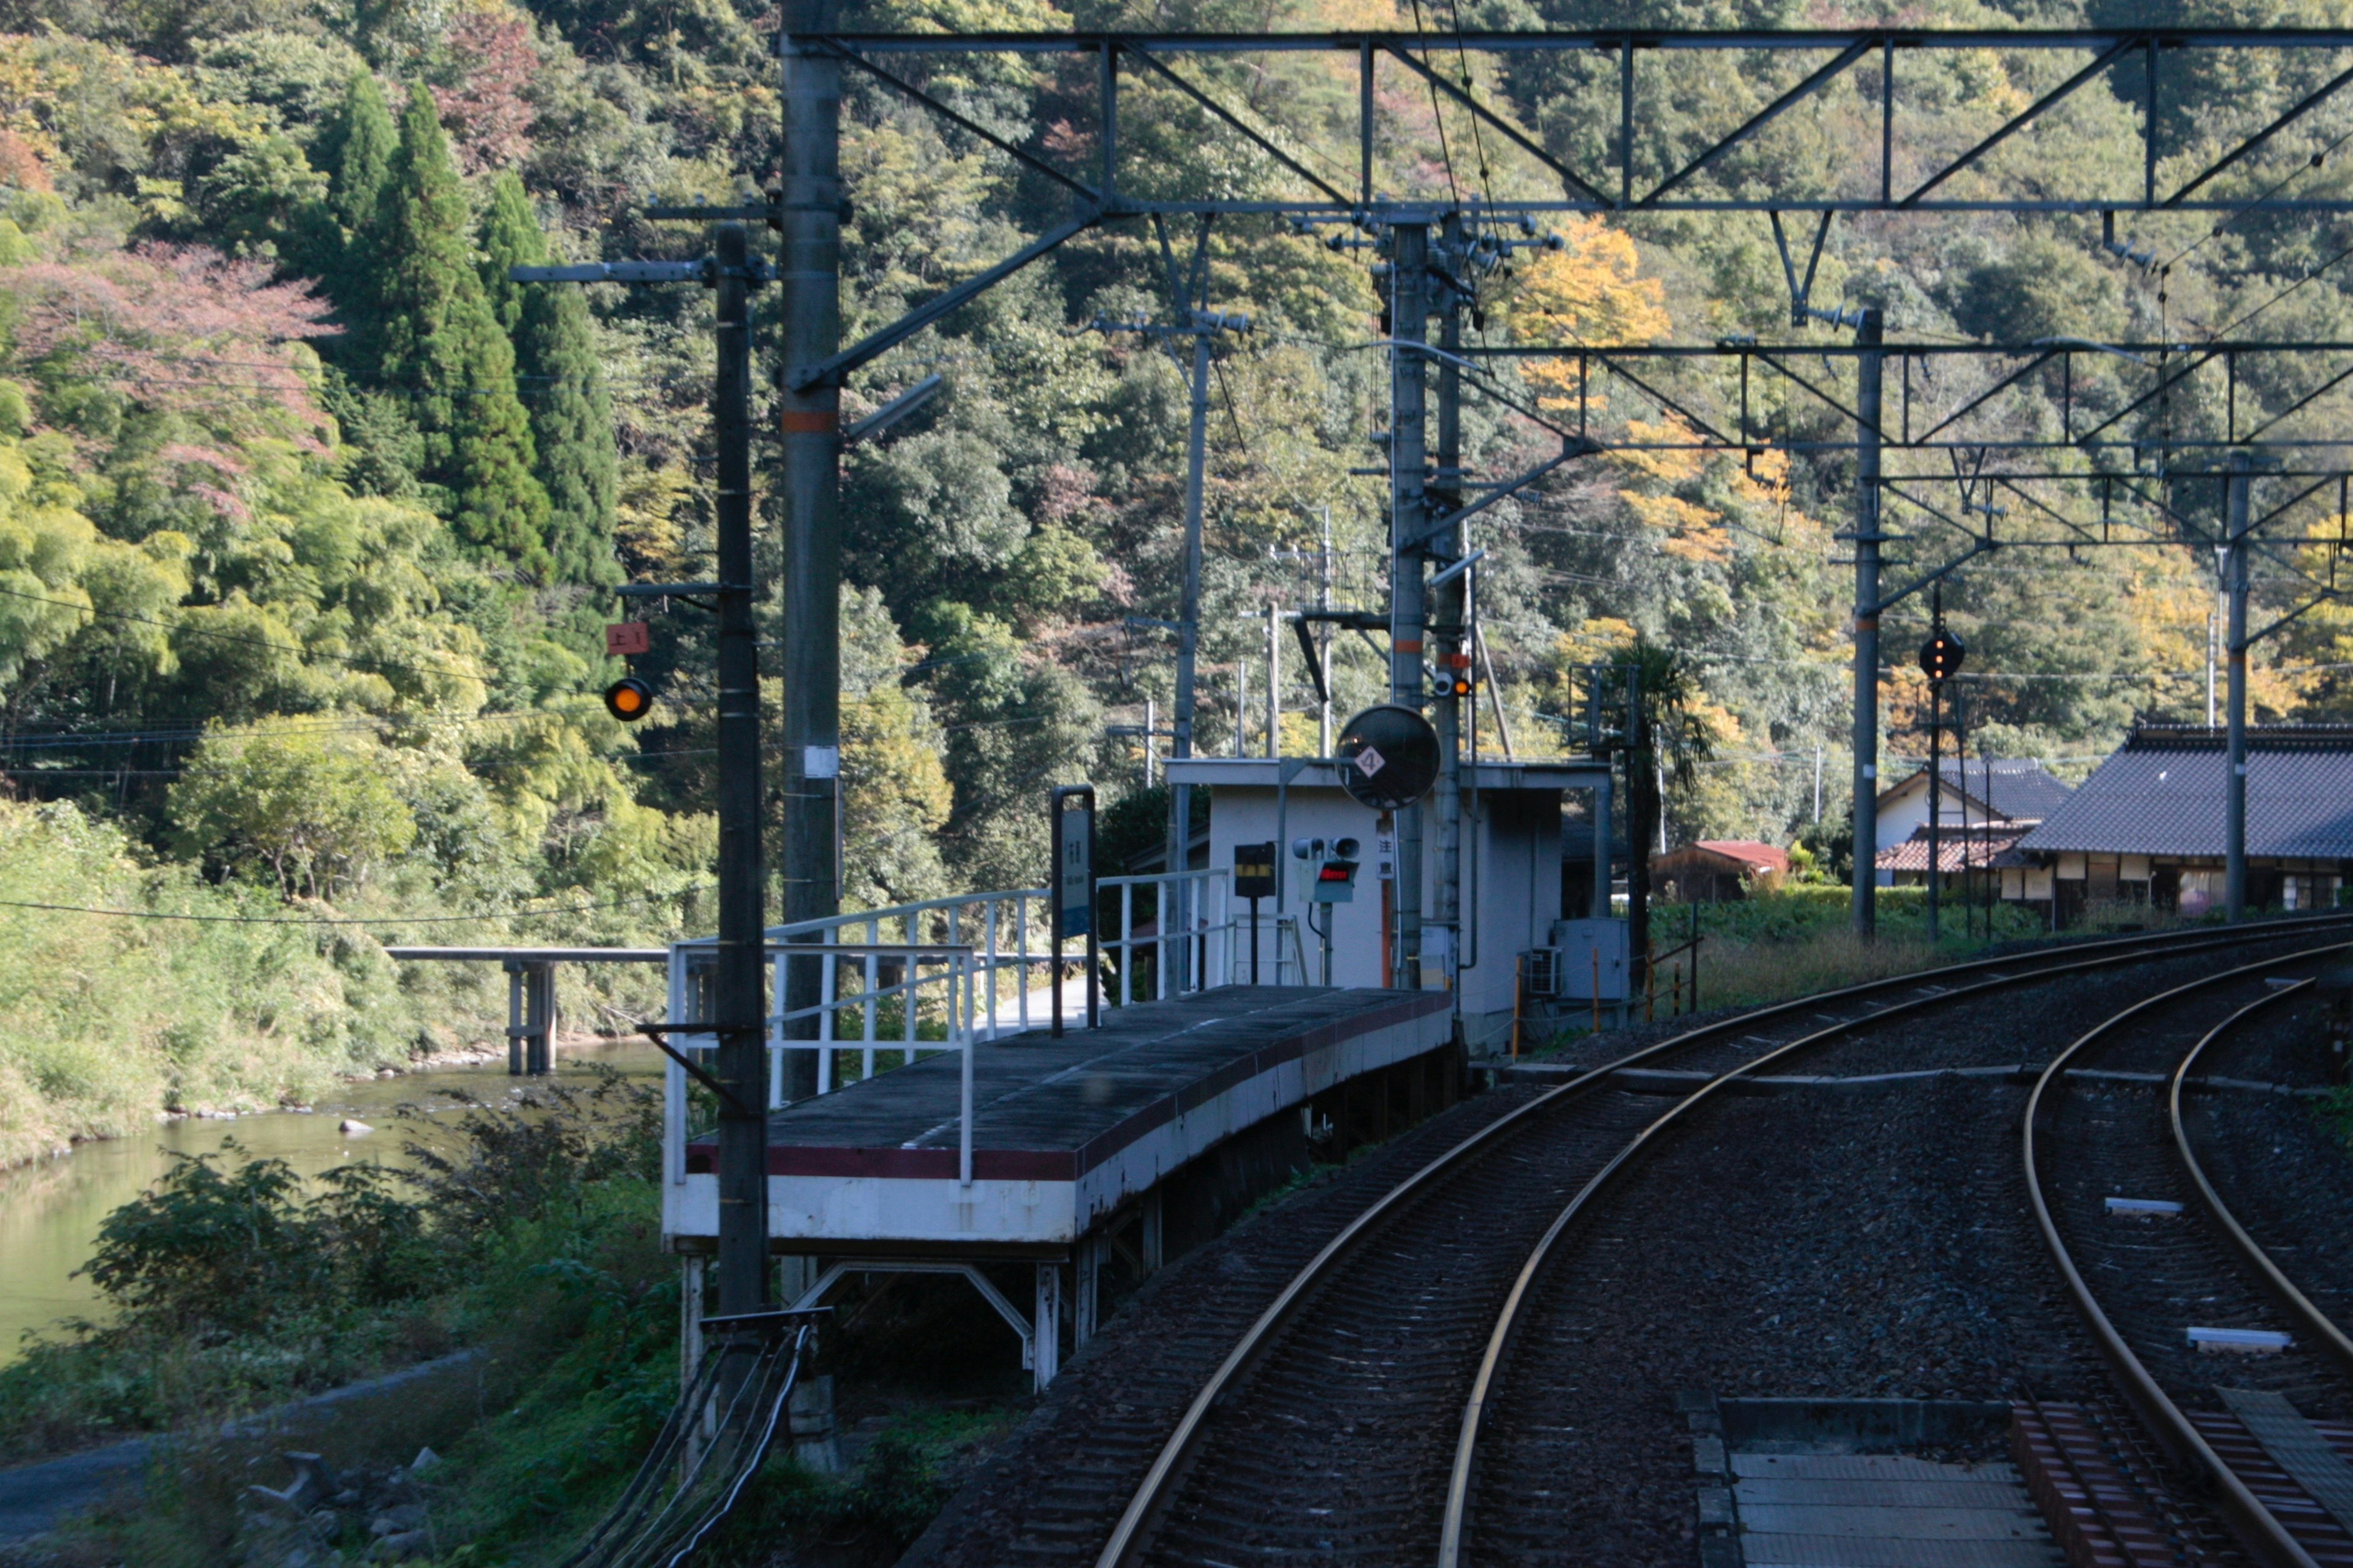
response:
<path id="1" fill-rule="evenodd" d="M 835 26 L 835 0 L 784 0 L 784 247 L 776 280 L 784 364 L 824 364 L 842 341 L 842 66 L 795 40 Z M 784 461 L 784 919 L 840 912 L 842 771 L 842 536 L 840 388 L 833 378 L 781 388 Z M 722 682 L 725 684 L 725 682 Z M 786 1006 L 814 1009 L 821 964 L 786 964 Z M 795 1020 L 795 1039 L 816 1039 L 816 1018 Z M 784 1095 L 816 1093 L 816 1053 L 784 1053 Z M 725 1288 L 722 1288 L 725 1295 Z M 729 1307 L 720 1307 L 727 1312 Z"/>

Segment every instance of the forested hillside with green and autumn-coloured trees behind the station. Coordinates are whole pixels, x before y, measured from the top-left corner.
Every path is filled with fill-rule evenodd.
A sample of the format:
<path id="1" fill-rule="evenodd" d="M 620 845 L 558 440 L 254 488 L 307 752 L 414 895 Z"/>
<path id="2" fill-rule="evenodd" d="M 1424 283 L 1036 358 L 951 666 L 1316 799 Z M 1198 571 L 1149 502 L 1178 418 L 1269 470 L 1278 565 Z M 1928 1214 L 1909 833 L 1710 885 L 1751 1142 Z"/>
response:
<path id="1" fill-rule="evenodd" d="M 1941 0 L 1901 19 L 2188 14 L 2111 9 Z M 2195 14 L 2346 21 L 2254 0 Z M 847 7 L 845 26 L 1412 28 L 1419 16 L 1341 0 L 1151 12 L 878 0 Z M 1487 0 L 1445 24 L 1875 16 Z M 26 959 L 14 973 L 64 966 L 115 1004 L 0 997 L 0 1159 L 125 1126 L 165 1100 L 268 1098 L 301 1063 L 431 1044 L 452 997 L 402 990 L 379 938 L 616 940 L 704 924 L 708 625 L 689 611 L 661 621 L 656 654 L 640 661 L 664 689 L 656 722 L 624 731 L 595 691 L 616 672 L 600 642 L 616 614 L 609 588 L 708 576 L 708 299 L 522 289 L 506 268 L 696 254 L 689 226 L 649 223 L 642 207 L 732 197 L 774 169 L 774 12 L 751 0 L 12 0 L 0 28 L 0 766 L 12 795 L 0 832 L 21 846 L 0 870 L 5 893 L 73 910 L 398 922 L 158 929 L 7 910 L 7 947 Z M 1584 73 L 1602 68 L 1492 75 L 1482 63 L 1478 89 L 1598 160 L 1607 125 Z M 1958 150 L 2073 68 L 2047 54 L 1934 56 L 1904 92 Z M 1073 169 L 1094 158 L 1092 71 L 1049 56 L 920 63 L 929 92 Z M 1355 96 L 1337 63 L 1212 59 L 1195 78 L 1304 158 L 1325 158 L 1315 146 L 1346 155 Z M 1720 68 L 1661 80 L 1645 127 L 1661 167 L 1786 87 Z M 2245 134 L 2249 85 L 2184 80 L 2165 136 L 2188 165 Z M 1727 169 L 1758 195 L 1819 193 L 1826 148 L 1875 134 L 1871 82 L 1859 71 Z M 2254 87 L 2282 101 L 2299 89 Z M 1132 188 L 1292 188 L 1165 85 L 1136 78 L 1127 92 Z M 2104 82 L 2049 118 L 2057 136 L 2033 153 L 2064 148 L 2049 179 L 2134 183 L 2129 94 Z M 1544 183 L 1466 120 L 1438 122 L 1409 78 L 1384 87 L 1381 108 L 1388 190 Z M 2332 153 L 2346 113 L 2306 118 L 2226 183 L 2341 193 Z M 842 167 L 849 334 L 1066 209 L 1052 183 L 868 80 L 849 82 Z M 2092 216 L 1866 219 L 1833 230 L 1814 301 L 1882 306 L 1889 336 L 1913 341 L 2179 339 L 2233 322 L 2353 336 L 2339 228 L 2134 219 L 2132 240 L 2167 259 L 2144 268 L 2101 252 Z M 1487 277 L 1489 341 L 1802 339 L 1762 221 L 1555 230 L 1560 249 Z M 1096 230 L 894 350 L 845 397 L 856 414 L 925 374 L 948 381 L 894 440 L 845 461 L 845 860 L 859 903 L 1033 882 L 1045 785 L 1141 785 L 1134 743 L 1106 741 L 1104 726 L 1134 722 L 1146 698 L 1169 712 L 1172 642 L 1155 621 L 1176 614 L 1186 393 L 1160 350 L 1085 324 L 1165 317 L 1158 261 L 1146 228 Z M 1212 235 L 1212 306 L 1249 310 L 1257 327 L 1221 346 L 1212 388 L 1209 750 L 1231 745 L 1238 663 L 1264 658 L 1264 609 L 1315 599 L 1327 524 L 1337 602 L 1384 602 L 1384 489 L 1360 473 L 1379 463 L 1386 421 L 1386 364 L 1365 350 L 1379 308 L 1367 261 L 1271 221 Z M 1558 371 L 1525 374 L 1539 402 L 1574 397 Z M 2249 407 L 2292 404 L 2322 367 L 2278 376 L 2242 381 L 2242 421 Z M 2066 395 L 2118 409 L 2118 386 L 2089 369 Z M 2021 381 L 2002 418 L 2047 430 L 2059 395 L 2052 378 Z M 2167 418 L 2212 428 L 2217 411 L 2198 397 Z M 2327 430 L 2341 407 L 2322 397 L 2287 428 Z M 1593 411 L 1633 442 L 1673 435 L 1624 388 Z M 1777 437 L 1842 440 L 1828 409 L 1786 388 L 1762 418 Z M 1482 473 L 1511 473 L 1548 442 L 1473 400 L 1468 449 Z M 1835 447 L 1751 463 L 1633 451 L 1572 463 L 1494 508 L 1478 538 L 1492 557 L 1482 618 L 1520 748 L 1558 743 L 1569 663 L 1640 632 L 1704 672 L 1715 764 L 1678 799 L 1678 832 L 1788 837 L 1814 816 L 1817 752 L 1831 757 L 1824 816 L 1840 816 L 1833 531 L 1849 489 L 1852 454 Z M 2066 505 L 2097 517 L 2099 501 Z M 1899 522 L 1934 529 L 1925 515 Z M 2315 527 L 2334 536 L 2334 520 Z M 1915 559 L 1937 550 L 1920 545 Z M 2191 550 L 1995 555 L 1958 576 L 1946 604 L 1986 675 L 1972 701 L 1995 750 L 2089 759 L 2134 715 L 2202 717 L 2212 564 Z M 1892 649 L 1911 646 L 1922 611 L 1889 618 Z M 2320 611 L 2264 646 L 2266 715 L 2344 715 L 2348 625 Z M 1374 698 L 1377 682 L 1374 654 L 1344 642 L 1341 708 Z M 1289 741 L 1306 748 L 1306 689 L 1285 696 Z M 1899 677 L 1894 731 L 1915 701 Z M 1254 724 L 1261 703 L 1264 691 Z M 209 976 L 205 999 L 174 1018 L 120 1006 L 118 992 L 158 966 Z M 61 1037 L 80 1041 L 73 1053 L 54 1048 Z M 120 1084 L 106 1079 L 115 1067 L 89 1065 L 120 1065 L 125 1051 L 165 1065 Z M 42 1103 L 78 1110 L 9 1110 Z"/>

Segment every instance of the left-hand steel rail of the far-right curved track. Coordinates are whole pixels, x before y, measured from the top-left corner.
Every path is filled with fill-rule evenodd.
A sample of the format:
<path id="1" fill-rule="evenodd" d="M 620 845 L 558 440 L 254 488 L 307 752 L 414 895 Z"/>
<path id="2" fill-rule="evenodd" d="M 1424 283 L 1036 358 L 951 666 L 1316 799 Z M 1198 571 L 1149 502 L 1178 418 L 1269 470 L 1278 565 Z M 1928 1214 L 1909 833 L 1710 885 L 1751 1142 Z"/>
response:
<path id="1" fill-rule="evenodd" d="M 2191 1418 L 2181 1413 L 2181 1406 L 2177 1406 L 2172 1396 L 2158 1387 L 2158 1380 L 2148 1373 L 2134 1349 L 2125 1345 L 2125 1335 L 2120 1335 L 2115 1324 L 2108 1321 L 2108 1314 L 2099 1305 L 2099 1298 L 2092 1295 L 2092 1286 L 2085 1281 L 2082 1269 L 2075 1267 L 2075 1255 L 2059 1237 L 2059 1222 L 2052 1218 L 2049 1199 L 2042 1194 L 2042 1178 L 2035 1173 L 2035 1119 L 2042 1114 L 2042 1095 L 2059 1081 L 2066 1065 L 2092 1041 L 2101 1039 L 2125 1020 L 2207 985 L 2228 985 L 2231 980 L 2245 980 L 2247 976 L 2278 969 L 2280 964 L 2294 964 L 2325 952 L 2344 952 L 2346 947 L 2353 947 L 2353 943 L 2306 947 L 2301 952 L 2264 959 L 2259 964 L 2240 964 L 2238 969 L 2226 969 L 2219 976 L 2205 976 L 2186 985 L 2162 990 L 2155 997 L 2144 997 L 2125 1011 L 2104 1018 L 2085 1030 L 2066 1051 L 2052 1058 L 2052 1063 L 2042 1070 L 2042 1077 L 2035 1079 L 2033 1093 L 2026 1095 L 2026 1117 L 2019 1124 L 2021 1159 L 2026 1166 L 2026 1199 L 2035 1211 L 2035 1227 L 2042 1232 L 2042 1244 L 2049 1248 L 2052 1262 L 2059 1267 L 2059 1279 L 2075 1300 L 2075 1314 L 2082 1316 L 2085 1326 L 2092 1331 L 2092 1340 L 2099 1345 L 2099 1356 L 2108 1363 L 2108 1373 L 2115 1378 L 2125 1401 L 2177 1460 L 2188 1465 L 2214 1488 L 2217 1502 L 2240 1540 L 2264 1561 L 2287 1568 L 2318 1568 L 2318 1563 L 2313 1563 L 2313 1554 L 2287 1533 L 2287 1526 L 2282 1526 L 2278 1516 L 2264 1507 L 2264 1500 L 2254 1495 L 2254 1488 L 2249 1488 L 2228 1465 L 2221 1462 L 2221 1455 L 2214 1453 L 2212 1443 L 2205 1441 L 2205 1434 L 2191 1425 Z"/>

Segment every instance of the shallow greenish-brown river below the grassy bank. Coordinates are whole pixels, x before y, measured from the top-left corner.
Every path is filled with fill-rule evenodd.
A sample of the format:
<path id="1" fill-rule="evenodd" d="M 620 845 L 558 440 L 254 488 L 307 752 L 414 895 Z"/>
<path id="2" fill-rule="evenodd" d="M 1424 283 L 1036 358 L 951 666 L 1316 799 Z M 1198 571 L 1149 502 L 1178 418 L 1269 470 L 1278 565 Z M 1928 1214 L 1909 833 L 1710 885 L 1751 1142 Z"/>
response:
<path id="1" fill-rule="evenodd" d="M 586 1081 L 591 1063 L 628 1077 L 652 1079 L 661 1072 L 661 1053 L 635 1041 L 565 1048 L 558 1077 Z M 452 1091 L 489 1100 L 520 1081 L 525 1079 L 506 1077 L 504 1060 L 358 1079 L 341 1084 L 308 1112 L 165 1121 L 141 1138 L 85 1143 L 64 1159 L 0 1171 L 0 1366 L 19 1359 L 26 1331 L 52 1328 L 66 1316 L 106 1316 L 92 1284 L 73 1274 L 89 1262 L 106 1215 L 146 1192 L 172 1164 L 172 1154 L 214 1154 L 235 1140 L 240 1150 L 285 1159 L 304 1175 L 351 1159 L 400 1164 L 407 1135 L 395 1114 L 400 1105 L 447 1112 L 456 1105 Z M 339 1126 L 346 1117 L 374 1131 L 344 1133 Z"/>

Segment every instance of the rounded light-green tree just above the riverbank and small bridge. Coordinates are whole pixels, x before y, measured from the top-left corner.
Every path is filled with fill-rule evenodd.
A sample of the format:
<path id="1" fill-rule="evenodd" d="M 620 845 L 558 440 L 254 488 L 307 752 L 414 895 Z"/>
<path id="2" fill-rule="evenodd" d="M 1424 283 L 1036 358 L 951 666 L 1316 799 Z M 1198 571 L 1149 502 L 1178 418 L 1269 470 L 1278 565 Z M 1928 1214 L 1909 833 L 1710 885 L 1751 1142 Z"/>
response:
<path id="1" fill-rule="evenodd" d="M 325 726 L 216 729 L 172 785 L 179 849 L 235 870 L 261 858 L 287 898 L 334 898 L 416 842 L 374 738 Z"/>

